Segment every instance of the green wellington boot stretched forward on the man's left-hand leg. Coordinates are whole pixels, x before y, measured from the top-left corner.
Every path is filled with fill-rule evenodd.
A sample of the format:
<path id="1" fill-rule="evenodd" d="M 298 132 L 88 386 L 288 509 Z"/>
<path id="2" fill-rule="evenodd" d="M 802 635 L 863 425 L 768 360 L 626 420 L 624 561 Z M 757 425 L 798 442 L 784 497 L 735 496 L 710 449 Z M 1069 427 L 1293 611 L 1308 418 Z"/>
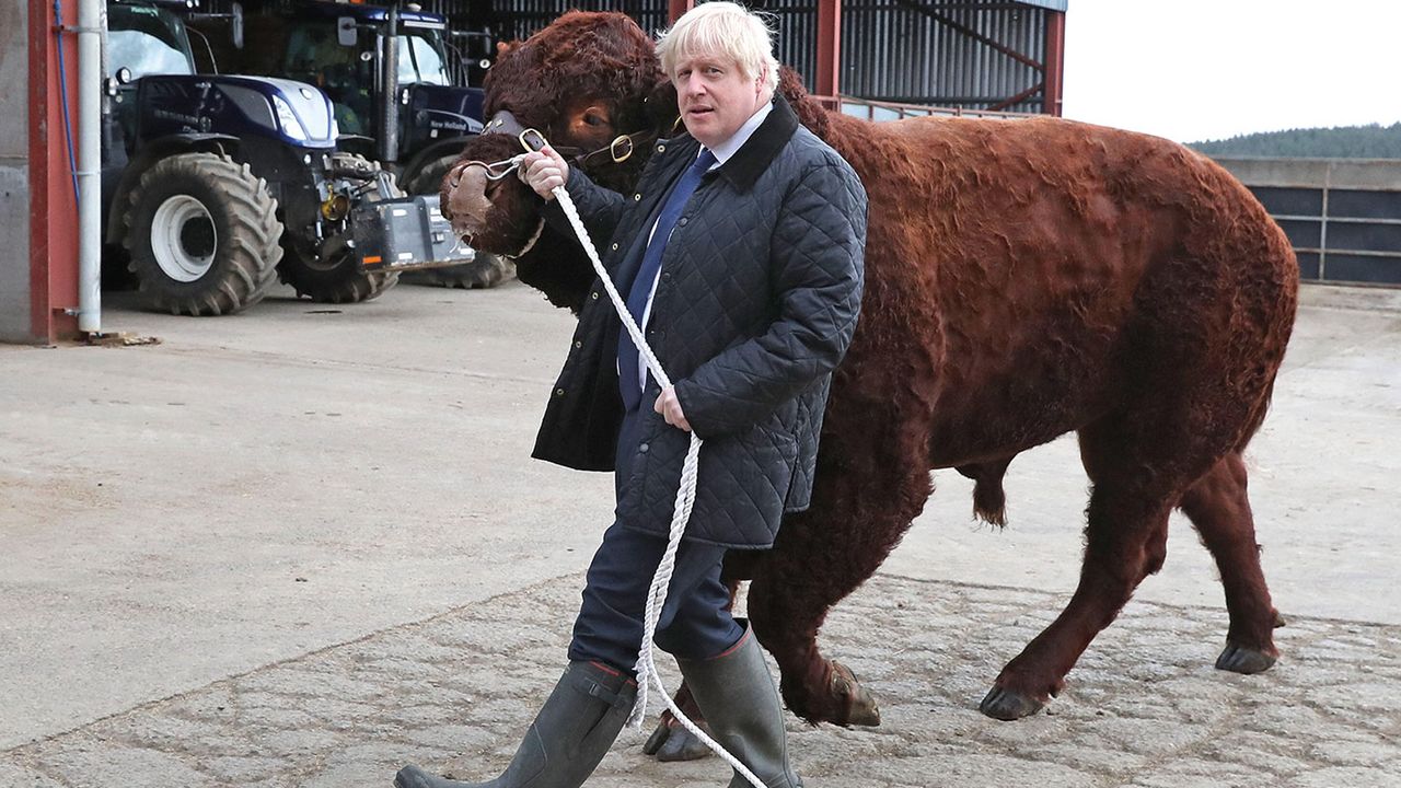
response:
<path id="1" fill-rule="evenodd" d="M 593 662 L 570 662 L 535 715 L 506 771 L 489 782 L 460 782 L 416 766 L 394 775 L 396 788 L 579 788 L 628 721 L 637 684 Z"/>

